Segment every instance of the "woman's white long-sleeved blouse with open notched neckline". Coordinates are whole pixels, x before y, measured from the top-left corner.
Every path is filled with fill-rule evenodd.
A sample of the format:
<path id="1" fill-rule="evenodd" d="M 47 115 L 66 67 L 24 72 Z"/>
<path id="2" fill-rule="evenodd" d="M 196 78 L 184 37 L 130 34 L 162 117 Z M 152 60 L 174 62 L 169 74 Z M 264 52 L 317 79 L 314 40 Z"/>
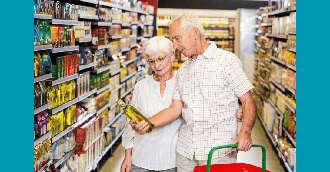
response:
<path id="1" fill-rule="evenodd" d="M 155 81 L 153 75 L 140 80 L 134 88 L 131 105 L 146 118 L 168 108 L 172 103 L 176 79 L 175 73 L 166 81 L 163 98 L 160 95 L 160 82 Z M 128 122 L 129 119 L 122 135 L 122 145 L 125 150 L 132 148 L 132 164 L 154 171 L 176 167 L 176 146 L 182 117 L 144 135 L 137 134 Z"/>

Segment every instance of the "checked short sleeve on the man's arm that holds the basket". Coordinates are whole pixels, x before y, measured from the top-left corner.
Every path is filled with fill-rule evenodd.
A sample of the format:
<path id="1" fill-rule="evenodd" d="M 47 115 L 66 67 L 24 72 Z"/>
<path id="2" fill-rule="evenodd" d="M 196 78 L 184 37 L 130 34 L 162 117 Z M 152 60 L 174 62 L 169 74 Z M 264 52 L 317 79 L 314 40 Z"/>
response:
<path id="1" fill-rule="evenodd" d="M 237 97 L 241 97 L 254 87 L 244 73 L 240 59 L 235 54 L 232 54 L 228 63 L 228 82 L 230 88 Z"/>

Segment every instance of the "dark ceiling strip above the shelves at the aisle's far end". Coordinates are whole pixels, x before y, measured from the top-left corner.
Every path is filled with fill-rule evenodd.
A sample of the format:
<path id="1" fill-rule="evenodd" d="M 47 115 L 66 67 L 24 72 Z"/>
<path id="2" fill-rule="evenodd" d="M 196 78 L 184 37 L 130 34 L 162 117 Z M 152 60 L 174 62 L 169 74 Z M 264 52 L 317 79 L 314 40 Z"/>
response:
<path id="1" fill-rule="evenodd" d="M 272 5 L 276 2 L 272 1 Z M 237 10 L 259 9 L 268 6 L 263 0 L 158 0 L 158 8 Z"/>

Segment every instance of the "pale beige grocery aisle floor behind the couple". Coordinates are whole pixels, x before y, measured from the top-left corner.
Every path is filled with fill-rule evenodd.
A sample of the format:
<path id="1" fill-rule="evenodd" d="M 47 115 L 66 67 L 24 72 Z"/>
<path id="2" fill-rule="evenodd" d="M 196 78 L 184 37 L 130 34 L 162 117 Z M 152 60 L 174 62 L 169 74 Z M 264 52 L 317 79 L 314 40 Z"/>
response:
<path id="1" fill-rule="evenodd" d="M 239 123 L 239 129 L 242 123 Z M 271 172 L 285 172 L 281 160 L 278 158 L 276 152 L 273 150 L 272 145 L 263 129 L 258 117 L 252 129 L 251 138 L 253 144 L 262 145 L 266 148 L 266 169 Z M 124 148 L 121 144 L 100 169 L 100 172 L 120 172 L 120 165 L 124 159 Z M 262 164 L 262 151 L 261 148 L 253 147 L 248 152 L 239 152 L 237 154 L 237 162 L 243 162 L 261 167 Z"/>

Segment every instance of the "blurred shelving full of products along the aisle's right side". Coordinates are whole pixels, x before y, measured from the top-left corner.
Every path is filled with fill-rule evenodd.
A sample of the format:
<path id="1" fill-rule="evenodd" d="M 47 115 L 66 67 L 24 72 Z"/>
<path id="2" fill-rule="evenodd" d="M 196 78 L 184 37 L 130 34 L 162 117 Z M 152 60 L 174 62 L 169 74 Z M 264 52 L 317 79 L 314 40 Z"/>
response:
<path id="1" fill-rule="evenodd" d="M 293 4 L 293 3 L 292 3 Z M 259 9 L 255 43 L 257 112 L 288 171 L 296 170 L 295 6 Z"/>

